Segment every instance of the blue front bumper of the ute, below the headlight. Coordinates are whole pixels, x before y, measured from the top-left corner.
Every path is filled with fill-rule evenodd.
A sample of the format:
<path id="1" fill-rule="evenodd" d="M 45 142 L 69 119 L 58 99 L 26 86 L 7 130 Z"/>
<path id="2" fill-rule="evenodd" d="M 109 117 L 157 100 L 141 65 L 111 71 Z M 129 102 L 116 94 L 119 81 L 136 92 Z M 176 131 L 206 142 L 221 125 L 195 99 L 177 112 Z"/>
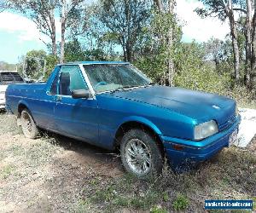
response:
<path id="1" fill-rule="evenodd" d="M 230 135 L 238 129 L 241 122 L 240 115 L 236 122 L 229 129 L 212 135 L 202 141 L 188 141 L 178 138 L 161 136 L 166 149 L 166 157 L 172 166 L 177 167 L 183 164 L 198 164 L 209 158 L 224 147 L 229 147 Z M 177 150 L 179 147 L 180 150 Z"/>

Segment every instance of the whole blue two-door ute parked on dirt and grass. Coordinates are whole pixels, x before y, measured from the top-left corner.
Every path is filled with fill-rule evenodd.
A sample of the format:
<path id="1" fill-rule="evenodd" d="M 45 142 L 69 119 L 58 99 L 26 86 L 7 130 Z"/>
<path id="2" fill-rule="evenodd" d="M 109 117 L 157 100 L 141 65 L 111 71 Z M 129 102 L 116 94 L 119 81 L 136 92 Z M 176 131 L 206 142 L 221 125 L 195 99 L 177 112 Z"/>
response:
<path id="1" fill-rule="evenodd" d="M 6 108 L 26 137 L 39 130 L 119 150 L 125 170 L 139 178 L 199 164 L 236 141 L 236 101 L 160 86 L 125 62 L 55 66 L 46 83 L 9 85 Z"/>

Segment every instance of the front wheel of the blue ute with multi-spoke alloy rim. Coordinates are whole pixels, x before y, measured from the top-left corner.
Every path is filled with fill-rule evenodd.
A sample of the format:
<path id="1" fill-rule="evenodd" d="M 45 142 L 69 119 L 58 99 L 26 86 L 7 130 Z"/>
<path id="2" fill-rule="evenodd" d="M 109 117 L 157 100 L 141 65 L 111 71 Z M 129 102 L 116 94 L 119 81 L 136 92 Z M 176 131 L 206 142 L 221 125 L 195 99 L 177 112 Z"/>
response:
<path id="1" fill-rule="evenodd" d="M 129 173 L 139 179 L 149 179 L 160 174 L 163 157 L 157 141 L 143 130 L 129 130 L 120 146 L 122 163 Z"/>

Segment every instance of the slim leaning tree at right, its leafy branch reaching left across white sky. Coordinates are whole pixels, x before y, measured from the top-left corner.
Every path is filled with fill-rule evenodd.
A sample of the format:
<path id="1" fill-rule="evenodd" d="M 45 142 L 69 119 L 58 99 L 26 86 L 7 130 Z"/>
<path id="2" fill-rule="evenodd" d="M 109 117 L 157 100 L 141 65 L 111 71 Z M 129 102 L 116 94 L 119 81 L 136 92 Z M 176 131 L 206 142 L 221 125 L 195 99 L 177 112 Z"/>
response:
<path id="1" fill-rule="evenodd" d="M 196 9 L 196 12 L 201 17 L 214 16 L 220 20 L 229 20 L 230 23 L 230 37 L 232 39 L 233 55 L 234 55 L 234 77 L 236 82 L 240 78 L 240 58 L 239 58 L 239 45 L 236 29 L 236 20 L 234 11 L 243 11 L 241 8 L 234 8 L 234 4 L 238 3 L 237 0 L 201 0 L 204 3 L 204 9 Z"/>

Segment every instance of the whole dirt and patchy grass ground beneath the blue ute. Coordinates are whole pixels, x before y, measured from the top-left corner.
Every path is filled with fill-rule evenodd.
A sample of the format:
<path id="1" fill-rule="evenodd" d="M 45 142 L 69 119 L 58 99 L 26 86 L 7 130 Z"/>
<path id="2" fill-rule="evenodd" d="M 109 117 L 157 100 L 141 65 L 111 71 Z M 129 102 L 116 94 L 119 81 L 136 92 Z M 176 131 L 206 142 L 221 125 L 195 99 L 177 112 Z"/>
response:
<path id="1" fill-rule="evenodd" d="M 116 153 L 61 135 L 26 139 L 15 117 L 0 113 L 0 212 L 207 212 L 205 199 L 256 202 L 255 186 L 256 137 L 189 174 L 167 168 L 139 181 Z"/>

